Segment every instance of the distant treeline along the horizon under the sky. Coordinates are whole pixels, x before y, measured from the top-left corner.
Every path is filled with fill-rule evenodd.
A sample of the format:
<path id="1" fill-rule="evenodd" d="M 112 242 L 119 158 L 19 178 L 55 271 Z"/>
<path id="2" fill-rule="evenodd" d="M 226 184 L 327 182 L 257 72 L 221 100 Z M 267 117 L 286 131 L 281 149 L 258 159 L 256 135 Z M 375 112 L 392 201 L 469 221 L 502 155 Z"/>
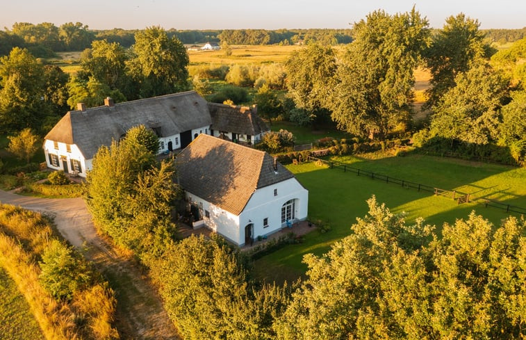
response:
<path id="1" fill-rule="evenodd" d="M 55 26 L 49 22 L 31 24 L 17 22 L 12 29 L 0 31 L 0 56 L 9 54 L 13 47 L 25 47 L 40 58 L 54 56 L 58 51 L 82 51 L 93 40 L 118 42 L 123 47 L 135 43 L 134 35 L 140 30 L 108 29 L 90 30 L 81 22 L 68 22 Z M 526 36 L 523 29 L 482 30 L 492 42 L 514 42 Z M 226 44 L 297 44 L 318 42 L 322 45 L 348 44 L 352 42 L 352 29 L 226 29 L 226 30 L 176 30 L 167 34 L 176 36 L 183 44 L 221 42 Z"/>

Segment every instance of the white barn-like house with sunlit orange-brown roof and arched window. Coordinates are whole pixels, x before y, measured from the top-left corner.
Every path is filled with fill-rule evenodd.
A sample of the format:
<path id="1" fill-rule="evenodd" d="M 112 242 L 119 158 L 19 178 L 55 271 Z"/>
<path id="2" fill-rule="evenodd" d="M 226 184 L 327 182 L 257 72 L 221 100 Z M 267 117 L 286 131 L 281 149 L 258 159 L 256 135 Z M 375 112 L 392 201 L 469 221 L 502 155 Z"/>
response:
<path id="1" fill-rule="evenodd" d="M 176 170 L 195 218 L 237 245 L 307 217 L 309 191 L 266 152 L 203 134 Z"/>

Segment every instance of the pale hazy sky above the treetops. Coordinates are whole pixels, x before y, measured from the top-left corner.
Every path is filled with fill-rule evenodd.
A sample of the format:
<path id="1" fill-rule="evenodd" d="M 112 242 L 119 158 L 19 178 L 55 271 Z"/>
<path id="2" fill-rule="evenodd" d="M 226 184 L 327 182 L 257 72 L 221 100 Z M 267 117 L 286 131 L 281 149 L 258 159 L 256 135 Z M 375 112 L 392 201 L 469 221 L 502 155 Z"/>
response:
<path id="1" fill-rule="evenodd" d="M 82 22 L 90 29 L 349 29 L 373 10 L 413 5 L 430 26 L 460 12 L 481 29 L 526 26 L 526 0 L 0 0 L 0 28 L 15 22 Z"/>

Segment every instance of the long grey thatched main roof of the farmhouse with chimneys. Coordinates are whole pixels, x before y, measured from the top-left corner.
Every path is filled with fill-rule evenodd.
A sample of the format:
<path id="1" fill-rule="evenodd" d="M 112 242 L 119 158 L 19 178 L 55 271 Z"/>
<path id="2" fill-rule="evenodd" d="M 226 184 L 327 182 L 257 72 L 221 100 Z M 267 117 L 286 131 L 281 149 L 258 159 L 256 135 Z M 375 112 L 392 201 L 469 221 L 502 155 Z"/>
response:
<path id="1" fill-rule="evenodd" d="M 47 140 L 76 144 L 85 159 L 101 145 L 109 146 L 132 127 L 160 128 L 161 136 L 212 124 L 206 101 L 194 91 L 133 100 L 115 106 L 69 111 L 45 136 Z"/>

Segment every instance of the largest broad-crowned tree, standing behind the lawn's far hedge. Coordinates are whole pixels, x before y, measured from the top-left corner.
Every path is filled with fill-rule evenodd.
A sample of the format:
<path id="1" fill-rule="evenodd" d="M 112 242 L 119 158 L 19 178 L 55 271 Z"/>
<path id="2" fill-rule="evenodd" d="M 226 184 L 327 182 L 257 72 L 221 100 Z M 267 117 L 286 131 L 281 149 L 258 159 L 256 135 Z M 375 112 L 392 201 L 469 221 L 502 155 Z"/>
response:
<path id="1" fill-rule="evenodd" d="M 427 19 L 414 8 L 397 15 L 379 10 L 354 24 L 354 39 L 326 107 L 340 129 L 383 138 L 409 118 L 413 70 L 429 42 Z"/>

